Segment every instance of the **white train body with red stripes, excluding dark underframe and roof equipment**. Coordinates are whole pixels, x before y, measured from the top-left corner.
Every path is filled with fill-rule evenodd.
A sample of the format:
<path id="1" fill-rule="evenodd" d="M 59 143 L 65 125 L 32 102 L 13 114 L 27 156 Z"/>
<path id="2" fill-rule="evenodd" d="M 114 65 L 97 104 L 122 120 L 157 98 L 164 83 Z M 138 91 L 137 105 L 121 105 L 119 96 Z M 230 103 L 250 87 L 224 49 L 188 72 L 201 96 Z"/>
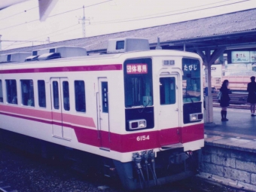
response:
<path id="1" fill-rule="evenodd" d="M 122 163 L 147 150 L 196 151 L 204 145 L 201 67 L 197 54 L 175 50 L 3 64 L 0 128 Z"/>

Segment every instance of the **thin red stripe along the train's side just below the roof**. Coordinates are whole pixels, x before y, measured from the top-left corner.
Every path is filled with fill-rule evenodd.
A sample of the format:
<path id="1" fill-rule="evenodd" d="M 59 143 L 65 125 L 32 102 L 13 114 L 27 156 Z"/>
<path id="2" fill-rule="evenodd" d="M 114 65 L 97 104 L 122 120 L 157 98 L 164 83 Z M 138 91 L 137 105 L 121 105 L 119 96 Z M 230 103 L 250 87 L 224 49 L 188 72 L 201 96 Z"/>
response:
<path id="1" fill-rule="evenodd" d="M 10 73 L 45 73 L 45 72 L 93 72 L 122 70 L 122 64 L 108 64 L 98 66 L 66 66 L 34 69 L 6 69 L 0 70 L 0 74 Z"/>

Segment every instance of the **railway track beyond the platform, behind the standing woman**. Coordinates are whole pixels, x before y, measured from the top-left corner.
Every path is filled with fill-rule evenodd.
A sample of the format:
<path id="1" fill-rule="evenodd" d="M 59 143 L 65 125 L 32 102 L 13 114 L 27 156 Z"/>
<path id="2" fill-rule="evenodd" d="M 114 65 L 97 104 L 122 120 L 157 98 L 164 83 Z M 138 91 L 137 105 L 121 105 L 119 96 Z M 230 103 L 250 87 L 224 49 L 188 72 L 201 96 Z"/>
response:
<path id="1" fill-rule="evenodd" d="M 245 93 L 231 93 L 229 108 L 249 109 L 250 105 L 247 102 L 248 94 Z M 217 93 L 212 93 L 212 102 L 214 107 L 220 107 L 217 99 Z"/>

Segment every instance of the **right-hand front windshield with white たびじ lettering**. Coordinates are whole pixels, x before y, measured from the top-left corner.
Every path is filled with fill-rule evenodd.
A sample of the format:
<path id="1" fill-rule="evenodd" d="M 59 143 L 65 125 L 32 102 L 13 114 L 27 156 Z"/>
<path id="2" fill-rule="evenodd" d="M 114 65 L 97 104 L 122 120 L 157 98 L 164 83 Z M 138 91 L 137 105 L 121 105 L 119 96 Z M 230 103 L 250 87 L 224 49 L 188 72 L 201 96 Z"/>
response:
<path id="1" fill-rule="evenodd" d="M 200 61 L 198 59 L 182 59 L 183 102 L 201 100 Z"/>

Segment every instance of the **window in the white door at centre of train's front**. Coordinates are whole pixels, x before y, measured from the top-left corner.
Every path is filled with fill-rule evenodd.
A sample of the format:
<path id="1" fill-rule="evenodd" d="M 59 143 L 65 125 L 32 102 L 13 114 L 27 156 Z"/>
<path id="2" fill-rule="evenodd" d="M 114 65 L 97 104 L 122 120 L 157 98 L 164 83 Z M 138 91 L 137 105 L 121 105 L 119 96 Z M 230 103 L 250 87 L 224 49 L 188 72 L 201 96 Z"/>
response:
<path id="1" fill-rule="evenodd" d="M 176 102 L 175 78 L 160 78 L 160 105 Z"/>

